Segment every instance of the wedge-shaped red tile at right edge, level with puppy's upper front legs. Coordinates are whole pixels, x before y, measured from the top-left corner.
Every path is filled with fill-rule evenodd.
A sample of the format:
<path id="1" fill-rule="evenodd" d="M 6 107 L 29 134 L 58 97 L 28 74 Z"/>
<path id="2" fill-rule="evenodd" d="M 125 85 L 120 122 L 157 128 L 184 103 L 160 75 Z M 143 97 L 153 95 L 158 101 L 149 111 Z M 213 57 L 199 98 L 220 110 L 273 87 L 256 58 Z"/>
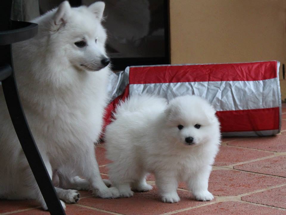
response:
<path id="1" fill-rule="evenodd" d="M 286 156 L 277 156 L 261 161 L 237 165 L 234 166 L 234 169 L 286 177 Z"/>

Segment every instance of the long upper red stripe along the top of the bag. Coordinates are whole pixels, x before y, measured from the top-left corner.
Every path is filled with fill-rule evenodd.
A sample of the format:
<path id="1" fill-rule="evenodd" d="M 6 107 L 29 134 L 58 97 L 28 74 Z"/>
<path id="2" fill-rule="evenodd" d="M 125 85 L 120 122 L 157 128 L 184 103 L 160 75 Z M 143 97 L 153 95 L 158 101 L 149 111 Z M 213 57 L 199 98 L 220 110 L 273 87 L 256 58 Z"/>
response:
<path id="1" fill-rule="evenodd" d="M 130 67 L 129 84 L 259 81 L 277 77 L 277 62 Z"/>

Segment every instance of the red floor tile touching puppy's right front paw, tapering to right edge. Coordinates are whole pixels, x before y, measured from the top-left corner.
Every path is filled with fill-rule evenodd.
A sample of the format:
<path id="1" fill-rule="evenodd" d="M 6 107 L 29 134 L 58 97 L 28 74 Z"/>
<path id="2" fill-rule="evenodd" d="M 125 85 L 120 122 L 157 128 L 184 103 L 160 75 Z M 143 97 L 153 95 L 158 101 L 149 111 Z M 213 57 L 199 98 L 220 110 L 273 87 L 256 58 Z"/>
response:
<path id="1" fill-rule="evenodd" d="M 235 170 L 213 170 L 209 178 L 209 191 L 217 196 L 235 196 L 284 183 L 286 178 Z"/>

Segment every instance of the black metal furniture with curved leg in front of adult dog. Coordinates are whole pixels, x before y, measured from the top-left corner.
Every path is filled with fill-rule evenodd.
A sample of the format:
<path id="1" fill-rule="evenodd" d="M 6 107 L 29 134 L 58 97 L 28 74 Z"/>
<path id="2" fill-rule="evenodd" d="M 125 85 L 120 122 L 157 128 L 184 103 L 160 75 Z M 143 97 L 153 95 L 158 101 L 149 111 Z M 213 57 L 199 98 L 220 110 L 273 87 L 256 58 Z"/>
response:
<path id="1" fill-rule="evenodd" d="M 12 0 L 1 1 L 0 81 L 13 126 L 48 210 L 50 214 L 65 214 L 29 129 L 13 71 L 11 44 L 35 36 L 38 26 L 35 23 L 10 21 L 11 5 Z"/>

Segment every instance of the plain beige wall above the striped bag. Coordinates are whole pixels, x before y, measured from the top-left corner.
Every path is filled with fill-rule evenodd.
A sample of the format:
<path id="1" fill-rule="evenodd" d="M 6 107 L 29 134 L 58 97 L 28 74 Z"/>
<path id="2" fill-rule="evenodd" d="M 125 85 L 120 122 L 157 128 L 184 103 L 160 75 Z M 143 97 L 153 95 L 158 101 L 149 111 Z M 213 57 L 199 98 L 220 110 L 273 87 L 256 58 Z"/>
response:
<path id="1" fill-rule="evenodd" d="M 172 64 L 278 60 L 282 79 L 285 31 L 286 0 L 170 0 Z"/>

